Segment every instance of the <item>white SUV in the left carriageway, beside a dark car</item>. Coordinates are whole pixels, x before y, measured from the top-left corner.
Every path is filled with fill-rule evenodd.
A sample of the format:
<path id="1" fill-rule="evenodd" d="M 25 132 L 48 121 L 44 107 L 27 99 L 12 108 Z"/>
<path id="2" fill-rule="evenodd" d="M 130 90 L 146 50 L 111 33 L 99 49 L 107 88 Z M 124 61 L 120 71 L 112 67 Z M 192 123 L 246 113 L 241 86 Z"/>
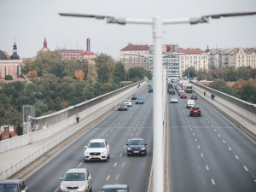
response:
<path id="1" fill-rule="evenodd" d="M 84 146 L 84 162 L 89 160 L 109 159 L 109 145 L 106 139 L 91 139 L 88 146 Z"/>

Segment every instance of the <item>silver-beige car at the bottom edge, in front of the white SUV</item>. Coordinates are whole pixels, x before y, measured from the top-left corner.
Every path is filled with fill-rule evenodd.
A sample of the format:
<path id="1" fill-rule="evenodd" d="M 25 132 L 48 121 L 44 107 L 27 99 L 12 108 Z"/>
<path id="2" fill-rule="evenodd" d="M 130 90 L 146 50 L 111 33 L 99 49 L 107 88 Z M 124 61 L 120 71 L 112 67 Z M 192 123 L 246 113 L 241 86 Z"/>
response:
<path id="1" fill-rule="evenodd" d="M 69 169 L 61 179 L 61 192 L 89 192 L 92 188 L 90 172 L 86 168 Z"/>

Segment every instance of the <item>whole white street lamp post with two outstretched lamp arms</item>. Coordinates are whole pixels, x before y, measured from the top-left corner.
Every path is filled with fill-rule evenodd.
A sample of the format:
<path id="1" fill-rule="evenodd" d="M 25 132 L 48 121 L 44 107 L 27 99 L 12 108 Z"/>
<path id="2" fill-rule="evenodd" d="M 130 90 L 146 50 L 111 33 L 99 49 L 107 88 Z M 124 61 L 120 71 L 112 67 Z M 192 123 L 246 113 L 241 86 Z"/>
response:
<path id="1" fill-rule="evenodd" d="M 160 16 L 155 16 L 153 20 L 148 19 L 126 19 L 115 18 L 108 15 L 84 15 L 84 14 L 66 14 L 60 13 L 62 16 L 73 17 L 89 17 L 96 19 L 107 18 L 107 23 L 116 23 L 120 25 L 125 24 L 146 24 L 153 26 L 153 38 L 154 38 L 154 64 L 153 64 L 153 84 L 154 84 L 154 102 L 153 102 L 153 126 L 154 126 L 154 153 L 153 153 L 153 185 L 154 192 L 164 192 L 164 151 L 163 151 L 163 70 L 162 70 L 162 34 L 163 25 L 165 24 L 198 24 L 206 23 L 209 18 L 219 19 L 220 17 L 234 17 L 242 15 L 256 15 L 256 12 L 242 12 L 242 13 L 230 13 L 219 15 L 204 15 L 197 18 L 182 18 L 182 19 L 168 19 L 163 20 Z"/>

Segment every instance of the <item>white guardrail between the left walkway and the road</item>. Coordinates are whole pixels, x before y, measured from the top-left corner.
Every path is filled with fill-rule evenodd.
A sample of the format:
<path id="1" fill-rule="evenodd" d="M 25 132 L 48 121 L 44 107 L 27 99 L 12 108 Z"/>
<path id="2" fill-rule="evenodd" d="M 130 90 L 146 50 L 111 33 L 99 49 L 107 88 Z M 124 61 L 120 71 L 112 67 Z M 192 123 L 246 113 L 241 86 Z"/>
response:
<path id="1" fill-rule="evenodd" d="M 62 133 L 59 137 L 56 137 L 49 143 L 46 143 L 43 147 L 38 148 L 38 150 L 34 151 L 32 154 L 27 155 L 25 158 L 19 160 L 14 165 L 9 166 L 8 168 L 6 168 L 2 172 L 0 172 L 0 180 L 7 179 L 7 178 L 11 177 L 12 175 L 14 175 L 16 172 L 19 172 L 22 168 L 24 168 L 25 166 L 28 166 L 30 163 L 32 163 L 32 161 L 37 160 L 38 157 L 42 156 L 43 154 L 48 152 L 50 149 L 54 148 L 56 145 L 63 142 L 64 140 L 66 140 L 67 137 L 72 136 L 75 132 L 82 129 L 85 125 L 90 124 L 90 122 L 101 117 L 102 114 L 107 113 L 108 110 L 111 110 L 113 107 L 116 107 L 120 101 L 125 100 L 125 98 L 127 98 L 127 96 L 131 96 L 132 91 L 134 92 L 134 89 L 130 90 L 129 93 L 127 93 L 125 96 L 122 96 L 117 102 L 113 102 L 111 105 L 109 105 L 107 108 L 104 108 L 99 113 L 96 113 L 95 115 L 91 116 L 90 118 L 85 119 L 84 121 L 80 122 L 79 125 L 75 125 L 70 130 Z"/>

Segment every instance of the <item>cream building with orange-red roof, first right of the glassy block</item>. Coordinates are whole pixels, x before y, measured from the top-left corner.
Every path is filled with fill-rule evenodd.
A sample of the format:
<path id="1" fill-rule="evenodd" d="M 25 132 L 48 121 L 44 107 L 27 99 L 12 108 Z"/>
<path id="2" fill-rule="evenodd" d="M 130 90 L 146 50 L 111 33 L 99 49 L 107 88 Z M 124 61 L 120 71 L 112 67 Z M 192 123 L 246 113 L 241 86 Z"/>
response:
<path id="1" fill-rule="evenodd" d="M 208 54 L 201 49 L 179 49 L 179 74 L 183 77 L 183 72 L 189 67 L 195 67 L 208 72 Z"/>

